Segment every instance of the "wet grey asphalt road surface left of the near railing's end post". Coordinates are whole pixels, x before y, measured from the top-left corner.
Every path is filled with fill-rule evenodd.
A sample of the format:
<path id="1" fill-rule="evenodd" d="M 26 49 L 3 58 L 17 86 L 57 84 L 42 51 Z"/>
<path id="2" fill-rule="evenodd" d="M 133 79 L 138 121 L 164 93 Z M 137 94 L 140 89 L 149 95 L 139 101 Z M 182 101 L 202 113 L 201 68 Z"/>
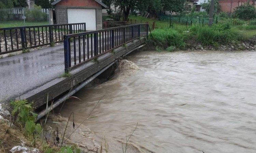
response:
<path id="1" fill-rule="evenodd" d="M 0 100 L 8 101 L 23 95 L 56 79 L 63 72 L 63 44 L 1 58 Z"/>

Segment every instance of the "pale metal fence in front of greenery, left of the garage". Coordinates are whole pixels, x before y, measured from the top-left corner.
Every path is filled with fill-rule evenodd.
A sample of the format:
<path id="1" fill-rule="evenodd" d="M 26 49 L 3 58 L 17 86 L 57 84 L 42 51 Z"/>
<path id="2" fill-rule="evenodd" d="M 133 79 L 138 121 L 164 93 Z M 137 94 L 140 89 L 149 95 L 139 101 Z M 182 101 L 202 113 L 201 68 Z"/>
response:
<path id="1" fill-rule="evenodd" d="M 0 9 L 0 27 L 36 26 L 49 24 L 49 9 Z"/>

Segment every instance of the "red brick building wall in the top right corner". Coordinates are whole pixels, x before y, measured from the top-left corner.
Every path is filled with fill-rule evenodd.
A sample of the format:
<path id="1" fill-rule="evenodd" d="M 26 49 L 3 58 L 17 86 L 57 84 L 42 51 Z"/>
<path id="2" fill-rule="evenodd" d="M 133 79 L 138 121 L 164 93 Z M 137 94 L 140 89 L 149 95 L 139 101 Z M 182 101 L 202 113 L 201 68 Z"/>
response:
<path id="1" fill-rule="evenodd" d="M 232 7 L 231 7 L 231 1 L 232 1 Z M 244 4 L 248 0 L 219 0 L 219 5 L 221 6 L 221 12 L 231 12 L 234 11 L 234 8 L 236 8 L 238 5 Z M 252 1 L 250 0 L 250 3 L 252 4 Z"/>

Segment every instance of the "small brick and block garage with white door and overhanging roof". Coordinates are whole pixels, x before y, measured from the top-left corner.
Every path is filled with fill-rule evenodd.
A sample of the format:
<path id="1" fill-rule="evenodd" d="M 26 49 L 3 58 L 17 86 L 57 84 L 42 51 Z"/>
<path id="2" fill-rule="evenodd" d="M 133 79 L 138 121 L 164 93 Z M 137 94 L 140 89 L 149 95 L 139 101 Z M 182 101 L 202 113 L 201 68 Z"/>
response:
<path id="1" fill-rule="evenodd" d="M 102 29 L 102 8 L 107 8 L 100 0 L 56 0 L 57 24 L 86 23 L 86 30 Z"/>

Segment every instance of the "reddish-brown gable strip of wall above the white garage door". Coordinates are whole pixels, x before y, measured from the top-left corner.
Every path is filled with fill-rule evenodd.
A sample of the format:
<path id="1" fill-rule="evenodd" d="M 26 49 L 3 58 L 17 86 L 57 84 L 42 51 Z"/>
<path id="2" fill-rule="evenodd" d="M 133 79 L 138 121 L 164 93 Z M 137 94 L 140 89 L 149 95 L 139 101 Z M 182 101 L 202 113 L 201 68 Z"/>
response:
<path id="1" fill-rule="evenodd" d="M 62 6 L 101 6 L 95 0 L 62 0 L 56 5 Z"/>

